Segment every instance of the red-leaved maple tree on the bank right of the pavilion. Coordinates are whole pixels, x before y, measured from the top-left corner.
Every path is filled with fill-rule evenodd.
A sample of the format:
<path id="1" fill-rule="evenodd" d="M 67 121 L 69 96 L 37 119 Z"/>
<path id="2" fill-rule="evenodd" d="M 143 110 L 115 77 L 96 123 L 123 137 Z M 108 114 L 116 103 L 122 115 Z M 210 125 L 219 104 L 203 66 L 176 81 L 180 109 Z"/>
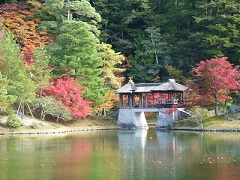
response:
<path id="1" fill-rule="evenodd" d="M 230 99 L 232 93 L 238 93 L 238 66 L 233 67 L 227 57 L 212 58 L 201 61 L 193 68 L 193 72 L 196 80 L 192 83 L 192 89 L 199 95 L 198 103 L 214 103 L 215 115 L 218 115 L 219 103 Z"/>

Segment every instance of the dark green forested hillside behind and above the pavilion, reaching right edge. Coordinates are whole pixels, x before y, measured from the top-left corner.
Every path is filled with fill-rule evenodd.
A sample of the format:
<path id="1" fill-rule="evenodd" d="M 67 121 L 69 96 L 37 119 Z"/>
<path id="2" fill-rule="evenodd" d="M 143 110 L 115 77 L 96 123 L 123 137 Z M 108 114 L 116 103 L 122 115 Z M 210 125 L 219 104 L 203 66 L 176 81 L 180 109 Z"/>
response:
<path id="1" fill-rule="evenodd" d="M 102 39 L 129 59 L 135 81 L 185 76 L 201 60 L 227 56 L 239 64 L 240 2 L 237 0 L 95 0 Z"/>

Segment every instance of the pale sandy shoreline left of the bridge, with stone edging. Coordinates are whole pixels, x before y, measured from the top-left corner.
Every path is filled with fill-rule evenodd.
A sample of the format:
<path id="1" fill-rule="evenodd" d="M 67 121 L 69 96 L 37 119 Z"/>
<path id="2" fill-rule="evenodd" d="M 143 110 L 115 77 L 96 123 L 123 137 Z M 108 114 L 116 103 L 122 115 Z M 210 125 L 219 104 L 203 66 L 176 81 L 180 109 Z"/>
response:
<path id="1" fill-rule="evenodd" d="M 23 126 L 10 128 L 6 125 L 7 116 L 0 116 L 0 136 L 4 135 L 40 135 L 40 134 L 65 134 L 83 131 L 118 130 L 114 120 L 85 119 L 72 122 L 56 122 L 40 120 L 25 116 L 21 121 Z"/>

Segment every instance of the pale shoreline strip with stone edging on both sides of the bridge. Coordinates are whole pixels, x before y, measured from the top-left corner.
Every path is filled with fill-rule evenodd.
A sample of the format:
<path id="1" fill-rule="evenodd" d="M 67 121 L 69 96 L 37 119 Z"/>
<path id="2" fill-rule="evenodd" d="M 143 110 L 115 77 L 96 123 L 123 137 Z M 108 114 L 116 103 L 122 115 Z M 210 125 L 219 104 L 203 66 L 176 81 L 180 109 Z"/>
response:
<path id="1" fill-rule="evenodd" d="M 113 130 L 131 130 L 122 129 L 117 126 L 115 120 L 80 120 L 68 123 L 49 122 L 39 119 L 32 119 L 31 117 L 25 117 L 23 127 L 17 129 L 11 129 L 6 127 L 6 117 L 0 118 L 0 136 L 11 135 L 53 135 L 53 134 L 66 134 L 75 132 L 87 132 L 87 131 L 113 131 Z M 1 126 L 2 125 L 2 126 Z M 191 131 L 191 132 L 240 132 L 240 121 L 223 121 L 218 124 L 211 124 L 205 126 L 203 129 L 200 127 L 191 126 L 172 126 L 156 128 L 156 123 L 148 122 L 148 128 L 155 129 L 156 131 Z M 140 129 L 140 128 L 139 128 Z"/>

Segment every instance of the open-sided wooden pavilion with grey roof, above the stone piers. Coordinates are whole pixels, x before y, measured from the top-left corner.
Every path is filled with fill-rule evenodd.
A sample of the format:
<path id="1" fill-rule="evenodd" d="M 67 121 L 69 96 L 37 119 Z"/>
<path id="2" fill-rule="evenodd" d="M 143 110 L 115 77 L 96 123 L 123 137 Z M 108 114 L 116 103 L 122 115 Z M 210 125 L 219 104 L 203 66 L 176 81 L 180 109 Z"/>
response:
<path id="1" fill-rule="evenodd" d="M 169 108 L 183 105 L 183 92 L 187 89 L 174 79 L 164 83 L 139 83 L 131 79 L 119 88 L 120 109 L 123 108 Z"/>

